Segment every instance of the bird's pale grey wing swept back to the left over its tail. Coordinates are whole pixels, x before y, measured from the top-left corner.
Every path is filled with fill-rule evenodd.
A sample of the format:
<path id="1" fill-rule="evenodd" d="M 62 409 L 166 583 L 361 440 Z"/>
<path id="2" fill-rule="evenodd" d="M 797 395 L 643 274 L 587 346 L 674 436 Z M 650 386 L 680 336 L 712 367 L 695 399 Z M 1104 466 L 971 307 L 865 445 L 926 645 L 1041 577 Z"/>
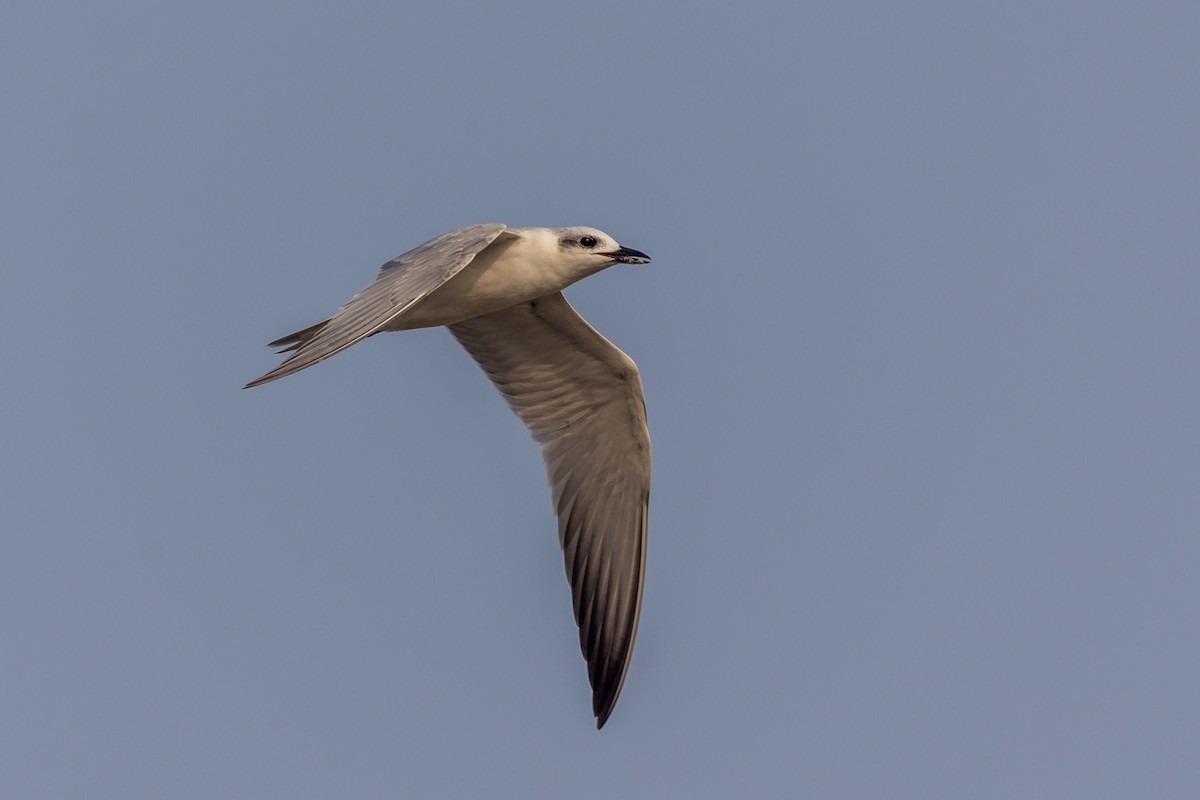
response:
<path id="1" fill-rule="evenodd" d="M 374 333 L 457 275 L 504 229 L 499 223 L 458 228 L 388 261 L 374 283 L 354 295 L 336 314 L 271 342 L 268 347 L 282 347 L 280 353 L 292 355 L 246 384 L 246 389 L 311 367 Z"/>

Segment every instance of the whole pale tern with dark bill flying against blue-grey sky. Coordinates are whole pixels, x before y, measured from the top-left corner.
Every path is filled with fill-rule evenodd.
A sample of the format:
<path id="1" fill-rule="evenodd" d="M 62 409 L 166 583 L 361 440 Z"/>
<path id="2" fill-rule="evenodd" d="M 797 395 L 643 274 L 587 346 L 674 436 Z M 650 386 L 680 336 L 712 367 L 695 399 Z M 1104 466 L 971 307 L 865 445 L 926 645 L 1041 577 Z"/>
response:
<path id="1" fill-rule="evenodd" d="M 650 440 L 637 366 L 560 291 L 612 264 L 647 261 L 592 228 L 460 228 L 384 264 L 334 317 L 272 342 L 292 355 L 247 384 L 379 331 L 448 326 L 541 445 L 600 727 L 637 632 Z"/>

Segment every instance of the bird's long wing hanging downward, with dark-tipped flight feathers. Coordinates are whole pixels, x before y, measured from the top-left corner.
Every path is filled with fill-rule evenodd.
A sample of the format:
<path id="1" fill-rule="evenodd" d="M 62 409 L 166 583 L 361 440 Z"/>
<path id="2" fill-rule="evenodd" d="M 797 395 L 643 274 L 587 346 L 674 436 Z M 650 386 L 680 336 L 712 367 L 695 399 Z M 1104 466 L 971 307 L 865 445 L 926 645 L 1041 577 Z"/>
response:
<path id="1" fill-rule="evenodd" d="M 541 445 L 602 727 L 634 651 L 650 435 L 637 365 L 562 294 L 450 325 Z"/>

